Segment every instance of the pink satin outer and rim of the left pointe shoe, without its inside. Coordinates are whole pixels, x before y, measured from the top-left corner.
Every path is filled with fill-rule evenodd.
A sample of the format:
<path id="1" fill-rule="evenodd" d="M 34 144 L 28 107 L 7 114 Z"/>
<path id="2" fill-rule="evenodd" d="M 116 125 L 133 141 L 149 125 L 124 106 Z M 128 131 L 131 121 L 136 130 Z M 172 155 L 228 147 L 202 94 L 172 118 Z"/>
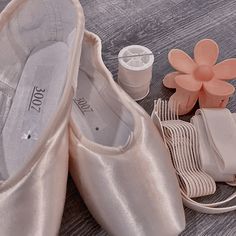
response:
<path id="1" fill-rule="evenodd" d="M 0 29 L 25 2 L 10 2 L 0 15 Z M 68 175 L 68 119 L 84 32 L 82 8 L 77 0 L 71 2 L 77 12 L 77 26 L 65 89 L 30 162 L 0 184 L 0 235 L 3 236 L 51 236 L 57 235 L 60 227 Z"/>

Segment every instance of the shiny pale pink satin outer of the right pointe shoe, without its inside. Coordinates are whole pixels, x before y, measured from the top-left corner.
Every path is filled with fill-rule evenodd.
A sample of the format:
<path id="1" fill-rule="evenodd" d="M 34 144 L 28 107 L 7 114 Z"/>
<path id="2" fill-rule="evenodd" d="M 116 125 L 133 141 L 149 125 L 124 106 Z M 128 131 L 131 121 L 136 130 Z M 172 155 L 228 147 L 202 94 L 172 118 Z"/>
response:
<path id="1" fill-rule="evenodd" d="M 101 42 L 86 32 L 81 67 L 104 77 L 134 120 L 125 147 L 88 140 L 71 115 L 70 172 L 89 210 L 109 235 L 174 236 L 185 227 L 171 157 L 148 114 L 114 82 L 101 58 Z M 96 79 L 96 77 L 94 77 Z M 107 83 L 105 83 L 105 80 Z"/>

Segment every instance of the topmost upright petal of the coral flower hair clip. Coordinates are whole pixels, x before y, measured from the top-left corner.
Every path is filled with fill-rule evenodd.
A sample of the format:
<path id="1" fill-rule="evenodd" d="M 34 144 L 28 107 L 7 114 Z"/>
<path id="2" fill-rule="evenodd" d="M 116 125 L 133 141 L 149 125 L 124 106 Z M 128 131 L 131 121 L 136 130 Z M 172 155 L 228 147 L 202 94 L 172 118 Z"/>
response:
<path id="1" fill-rule="evenodd" d="M 214 40 L 203 39 L 194 48 L 194 59 L 198 65 L 215 65 L 219 55 L 219 47 Z"/>

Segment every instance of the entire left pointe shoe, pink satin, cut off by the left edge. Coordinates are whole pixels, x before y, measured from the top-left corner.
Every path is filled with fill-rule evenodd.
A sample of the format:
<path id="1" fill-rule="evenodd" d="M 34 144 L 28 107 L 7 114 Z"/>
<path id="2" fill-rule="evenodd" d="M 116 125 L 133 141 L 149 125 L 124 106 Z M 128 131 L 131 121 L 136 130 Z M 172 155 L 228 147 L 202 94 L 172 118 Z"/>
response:
<path id="1" fill-rule="evenodd" d="M 0 235 L 58 233 L 84 16 L 77 0 L 13 0 L 0 15 Z"/>

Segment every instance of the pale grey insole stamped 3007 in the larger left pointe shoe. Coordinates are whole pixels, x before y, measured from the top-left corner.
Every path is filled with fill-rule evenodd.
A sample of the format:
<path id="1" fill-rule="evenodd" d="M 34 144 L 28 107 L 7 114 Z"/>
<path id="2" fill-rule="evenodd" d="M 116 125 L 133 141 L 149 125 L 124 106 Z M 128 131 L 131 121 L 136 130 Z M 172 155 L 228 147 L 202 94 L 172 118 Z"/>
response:
<path id="1" fill-rule="evenodd" d="M 66 82 L 68 51 L 63 42 L 47 42 L 30 54 L 2 130 L 2 178 L 14 174 L 29 160 L 57 109 Z"/>

